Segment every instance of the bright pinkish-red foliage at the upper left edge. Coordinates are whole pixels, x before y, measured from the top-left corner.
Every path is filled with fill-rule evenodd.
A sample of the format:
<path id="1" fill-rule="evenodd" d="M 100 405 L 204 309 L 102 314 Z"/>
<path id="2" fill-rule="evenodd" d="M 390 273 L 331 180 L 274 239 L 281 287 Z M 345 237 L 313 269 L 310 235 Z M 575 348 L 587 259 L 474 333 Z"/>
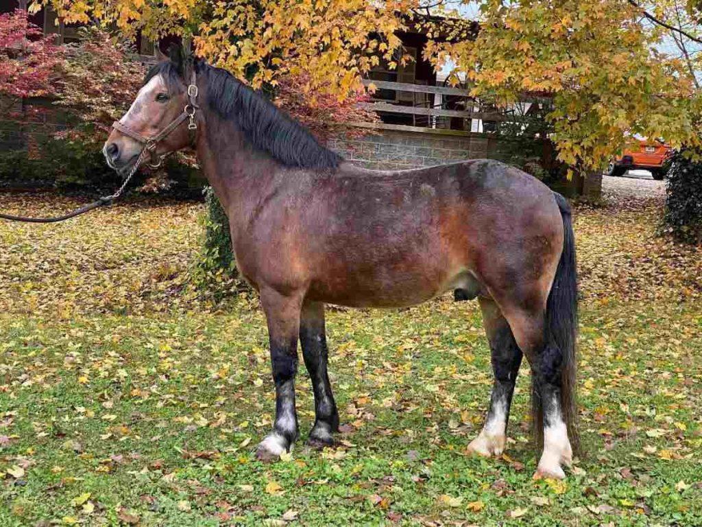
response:
<path id="1" fill-rule="evenodd" d="M 0 95 L 37 97 L 56 93 L 63 49 L 43 37 L 27 21 L 27 12 L 15 9 L 0 15 Z"/>

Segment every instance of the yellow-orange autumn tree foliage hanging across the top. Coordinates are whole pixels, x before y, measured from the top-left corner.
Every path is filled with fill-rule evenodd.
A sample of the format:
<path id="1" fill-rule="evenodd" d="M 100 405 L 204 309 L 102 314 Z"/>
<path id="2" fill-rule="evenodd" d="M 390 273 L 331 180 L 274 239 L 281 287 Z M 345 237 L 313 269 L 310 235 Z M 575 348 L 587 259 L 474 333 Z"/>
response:
<path id="1" fill-rule="evenodd" d="M 303 91 L 339 98 L 359 89 L 380 57 L 391 67 L 406 60 L 397 32 L 423 24 L 433 39 L 427 58 L 437 67 L 450 58 L 453 78 L 465 75 L 472 96 L 506 105 L 524 91 L 552 94 L 552 137 L 571 166 L 602 167 L 633 134 L 700 142 L 694 67 L 661 47 L 670 30 L 634 0 L 487 0 L 477 37 L 455 24 L 465 17 L 448 0 L 36 0 L 32 7 L 44 4 L 66 22 L 192 38 L 197 53 L 255 87 L 300 74 Z"/>

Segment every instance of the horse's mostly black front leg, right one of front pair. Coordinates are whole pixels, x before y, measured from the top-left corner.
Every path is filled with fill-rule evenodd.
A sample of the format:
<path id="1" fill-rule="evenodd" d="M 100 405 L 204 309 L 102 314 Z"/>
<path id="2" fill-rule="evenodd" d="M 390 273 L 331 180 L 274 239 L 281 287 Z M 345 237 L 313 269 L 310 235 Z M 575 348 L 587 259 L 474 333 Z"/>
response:
<path id="1" fill-rule="evenodd" d="M 326 372 L 328 351 L 324 331 L 324 304 L 309 302 L 300 315 L 300 344 L 303 346 L 305 367 L 312 379 L 314 391 L 314 427 L 310 432 L 312 445 L 331 445 L 331 434 L 338 431 L 339 414 L 331 393 Z"/>

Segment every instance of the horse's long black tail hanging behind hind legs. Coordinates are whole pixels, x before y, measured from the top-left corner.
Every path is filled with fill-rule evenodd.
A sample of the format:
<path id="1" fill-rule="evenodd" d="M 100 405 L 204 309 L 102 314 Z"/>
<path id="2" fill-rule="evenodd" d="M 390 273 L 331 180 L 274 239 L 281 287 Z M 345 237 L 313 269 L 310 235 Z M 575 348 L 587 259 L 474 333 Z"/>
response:
<path id="1" fill-rule="evenodd" d="M 578 271 L 571 209 L 565 198 L 554 193 L 563 219 L 563 252 L 546 302 L 546 337 L 562 353 L 561 407 L 574 451 L 579 450 L 576 405 L 576 340 L 578 338 Z M 531 417 L 539 444 L 543 441 L 543 412 L 536 386 L 531 385 Z"/>

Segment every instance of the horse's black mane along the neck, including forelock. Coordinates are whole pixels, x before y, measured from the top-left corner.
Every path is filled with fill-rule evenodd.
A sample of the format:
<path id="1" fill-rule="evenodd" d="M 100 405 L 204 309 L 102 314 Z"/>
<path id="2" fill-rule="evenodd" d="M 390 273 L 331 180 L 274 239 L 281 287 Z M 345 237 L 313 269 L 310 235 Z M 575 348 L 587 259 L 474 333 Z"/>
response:
<path id="1" fill-rule="evenodd" d="M 145 77 L 148 82 L 161 74 L 170 89 L 183 82 L 183 59 L 154 65 Z M 178 54 L 176 54 L 178 56 Z M 192 60 L 192 59 L 190 59 Z M 206 77 L 206 101 L 223 119 L 233 122 L 254 148 L 268 152 L 288 167 L 308 169 L 335 168 L 343 159 L 319 144 L 310 131 L 279 110 L 262 94 L 235 79 L 230 72 L 213 67 L 204 60 L 192 60 L 198 75 Z"/>

